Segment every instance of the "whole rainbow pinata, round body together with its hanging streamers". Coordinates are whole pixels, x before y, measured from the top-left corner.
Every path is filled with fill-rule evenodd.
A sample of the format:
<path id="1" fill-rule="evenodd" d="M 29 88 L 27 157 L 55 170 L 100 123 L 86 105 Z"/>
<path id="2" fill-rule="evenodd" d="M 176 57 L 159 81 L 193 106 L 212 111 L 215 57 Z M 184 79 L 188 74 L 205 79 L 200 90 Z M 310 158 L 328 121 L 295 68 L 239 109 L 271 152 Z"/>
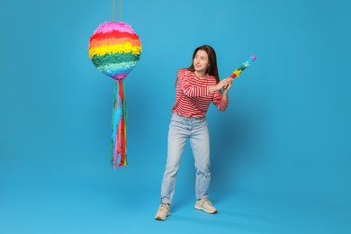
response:
<path id="1" fill-rule="evenodd" d="M 88 50 L 94 66 L 116 80 L 112 107 L 111 161 L 113 168 L 126 166 L 127 111 L 123 81 L 139 61 L 141 42 L 130 24 L 105 22 L 90 37 Z"/>

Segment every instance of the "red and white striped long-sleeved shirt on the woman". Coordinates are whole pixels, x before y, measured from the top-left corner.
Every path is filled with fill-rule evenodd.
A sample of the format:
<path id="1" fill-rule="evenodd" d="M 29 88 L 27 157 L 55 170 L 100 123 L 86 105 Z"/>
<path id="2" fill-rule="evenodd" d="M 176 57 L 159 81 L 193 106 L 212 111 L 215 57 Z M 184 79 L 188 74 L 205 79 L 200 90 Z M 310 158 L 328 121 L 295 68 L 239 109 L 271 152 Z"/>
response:
<path id="1" fill-rule="evenodd" d="M 210 94 L 209 86 L 216 85 L 214 76 L 206 75 L 200 79 L 188 69 L 181 68 L 177 74 L 175 105 L 172 112 L 187 117 L 203 117 L 210 103 L 221 112 L 227 109 L 228 101 L 224 101 L 220 91 Z"/>

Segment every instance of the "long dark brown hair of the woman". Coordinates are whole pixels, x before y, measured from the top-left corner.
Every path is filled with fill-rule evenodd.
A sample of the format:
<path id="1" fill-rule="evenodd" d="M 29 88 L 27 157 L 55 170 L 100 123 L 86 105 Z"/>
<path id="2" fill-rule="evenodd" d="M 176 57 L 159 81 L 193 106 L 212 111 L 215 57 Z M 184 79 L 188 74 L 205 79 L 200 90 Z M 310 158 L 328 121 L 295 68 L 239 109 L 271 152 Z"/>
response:
<path id="1" fill-rule="evenodd" d="M 195 50 L 193 50 L 193 58 L 195 58 L 195 55 L 197 53 L 197 51 L 199 50 L 203 50 L 207 53 L 207 56 L 209 57 L 209 67 L 207 67 L 206 70 L 206 74 L 210 75 L 210 76 L 214 76 L 216 78 L 216 83 L 220 82 L 220 75 L 218 73 L 218 67 L 217 67 L 217 57 L 216 57 L 216 51 L 214 51 L 213 48 L 211 48 L 211 46 L 209 45 L 202 45 L 198 48 L 196 48 Z M 187 69 L 189 71 L 194 72 L 195 71 L 195 67 L 193 67 L 193 59 L 192 59 L 192 64 L 190 65 L 190 67 L 187 67 Z M 176 85 L 176 81 L 177 81 L 178 77 L 176 77 L 175 79 L 175 85 Z"/>

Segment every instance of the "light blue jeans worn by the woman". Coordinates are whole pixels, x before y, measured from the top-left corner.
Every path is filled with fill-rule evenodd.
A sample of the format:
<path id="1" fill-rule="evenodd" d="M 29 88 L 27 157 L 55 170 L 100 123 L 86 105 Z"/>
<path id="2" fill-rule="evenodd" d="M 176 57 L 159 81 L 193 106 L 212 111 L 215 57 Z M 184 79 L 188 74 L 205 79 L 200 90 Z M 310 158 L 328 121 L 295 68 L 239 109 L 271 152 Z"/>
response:
<path id="1" fill-rule="evenodd" d="M 196 198 L 208 198 L 211 173 L 210 135 L 206 118 L 190 118 L 173 113 L 169 124 L 166 170 L 161 188 L 162 203 L 172 203 L 176 175 L 186 139 L 190 139 L 193 149 L 196 168 Z"/>

